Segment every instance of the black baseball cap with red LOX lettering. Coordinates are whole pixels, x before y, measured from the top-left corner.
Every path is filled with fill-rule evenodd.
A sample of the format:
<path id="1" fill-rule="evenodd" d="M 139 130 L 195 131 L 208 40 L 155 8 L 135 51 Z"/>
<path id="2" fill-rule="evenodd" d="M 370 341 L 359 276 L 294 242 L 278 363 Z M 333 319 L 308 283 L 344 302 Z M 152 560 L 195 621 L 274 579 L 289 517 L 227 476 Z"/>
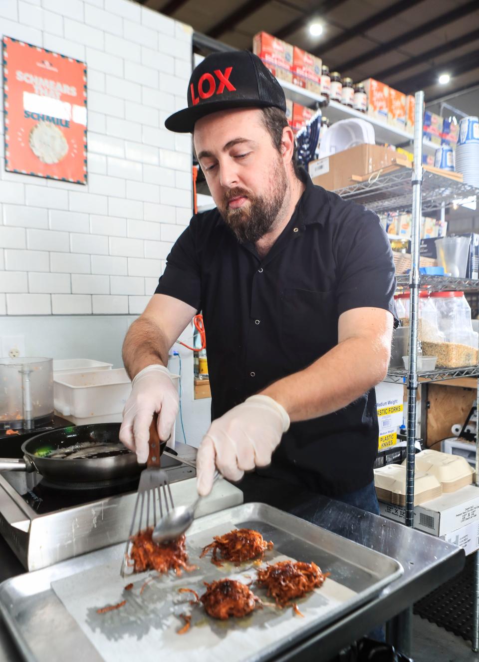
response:
<path id="1" fill-rule="evenodd" d="M 286 113 L 283 88 L 257 55 L 247 50 L 212 53 L 193 70 L 188 107 L 166 118 L 176 133 L 193 132 L 196 120 L 229 108 L 267 108 Z"/>

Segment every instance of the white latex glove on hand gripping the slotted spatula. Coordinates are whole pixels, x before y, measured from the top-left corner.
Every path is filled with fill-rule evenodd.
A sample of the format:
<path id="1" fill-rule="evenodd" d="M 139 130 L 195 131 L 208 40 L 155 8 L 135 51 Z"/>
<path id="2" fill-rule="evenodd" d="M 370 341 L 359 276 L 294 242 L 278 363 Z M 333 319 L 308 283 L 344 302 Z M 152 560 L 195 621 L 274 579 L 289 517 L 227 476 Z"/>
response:
<path id="1" fill-rule="evenodd" d="M 180 408 L 180 397 L 168 368 L 147 365 L 131 383 L 131 395 L 123 409 L 120 441 L 136 452 L 138 462 L 148 459 L 150 423 L 158 412 L 158 435 L 164 441 L 170 436 Z"/>

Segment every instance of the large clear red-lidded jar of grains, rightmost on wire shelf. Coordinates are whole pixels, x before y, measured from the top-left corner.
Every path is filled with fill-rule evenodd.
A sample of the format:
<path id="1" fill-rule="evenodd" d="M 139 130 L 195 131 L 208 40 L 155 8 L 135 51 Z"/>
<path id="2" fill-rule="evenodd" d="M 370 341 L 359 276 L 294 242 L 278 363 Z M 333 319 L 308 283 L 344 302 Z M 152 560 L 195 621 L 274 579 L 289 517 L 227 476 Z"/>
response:
<path id="1" fill-rule="evenodd" d="M 477 365 L 479 335 L 472 330 L 470 306 L 464 292 L 435 292 L 431 301 L 444 338 L 443 342 L 431 343 L 433 346 L 429 348 L 437 352 L 437 367 Z"/>

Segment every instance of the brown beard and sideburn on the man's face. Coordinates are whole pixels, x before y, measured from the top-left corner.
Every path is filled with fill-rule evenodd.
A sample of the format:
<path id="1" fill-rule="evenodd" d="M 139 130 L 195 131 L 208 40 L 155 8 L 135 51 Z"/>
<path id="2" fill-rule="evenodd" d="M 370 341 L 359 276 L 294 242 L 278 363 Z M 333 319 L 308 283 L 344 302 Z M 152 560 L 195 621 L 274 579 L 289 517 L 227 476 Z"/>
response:
<path id="1" fill-rule="evenodd" d="M 236 187 L 223 196 L 218 210 L 225 223 L 233 230 L 240 242 L 256 243 L 270 230 L 278 218 L 288 188 L 288 178 L 282 160 L 278 159 L 274 171 L 270 173 L 268 197 L 253 195 L 250 191 Z M 244 195 L 248 199 L 239 209 L 231 209 L 229 201 Z"/>

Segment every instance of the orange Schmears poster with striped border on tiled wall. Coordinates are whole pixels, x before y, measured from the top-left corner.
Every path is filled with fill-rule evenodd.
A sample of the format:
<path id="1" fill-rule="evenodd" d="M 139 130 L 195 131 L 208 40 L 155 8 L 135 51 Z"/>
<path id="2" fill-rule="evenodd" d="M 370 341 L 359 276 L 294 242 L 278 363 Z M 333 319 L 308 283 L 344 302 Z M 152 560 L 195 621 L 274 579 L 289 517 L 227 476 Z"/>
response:
<path id="1" fill-rule="evenodd" d="M 85 184 L 84 62 L 3 38 L 5 169 Z"/>

